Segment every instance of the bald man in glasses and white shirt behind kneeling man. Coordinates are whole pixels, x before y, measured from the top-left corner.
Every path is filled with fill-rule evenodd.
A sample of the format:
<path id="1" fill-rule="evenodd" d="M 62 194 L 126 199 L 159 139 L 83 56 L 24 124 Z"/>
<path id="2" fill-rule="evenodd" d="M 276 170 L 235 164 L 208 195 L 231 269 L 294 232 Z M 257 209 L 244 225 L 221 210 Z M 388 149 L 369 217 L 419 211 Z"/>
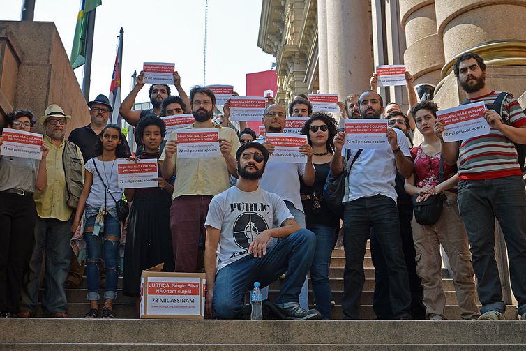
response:
<path id="1" fill-rule="evenodd" d="M 273 104 L 264 110 L 262 123 L 265 126 L 265 133 L 283 133 L 285 121 L 285 109 L 280 105 Z M 272 151 L 274 151 L 273 144 L 266 142 L 264 136 L 257 138 L 257 142 L 261 142 L 269 150 L 269 153 L 272 154 Z M 266 165 L 267 171 L 261 179 L 260 186 L 266 191 L 278 194 L 285 201 L 287 209 L 289 209 L 300 227 L 304 228 L 306 223 L 299 193 L 299 177 L 303 179 L 306 185 L 312 186 L 316 170 L 313 164 L 313 147 L 309 144 L 302 145 L 299 147 L 299 152 L 307 156 L 306 164 L 271 160 Z M 299 303 L 302 308 L 308 309 L 308 285 L 306 279 L 301 290 Z"/>

